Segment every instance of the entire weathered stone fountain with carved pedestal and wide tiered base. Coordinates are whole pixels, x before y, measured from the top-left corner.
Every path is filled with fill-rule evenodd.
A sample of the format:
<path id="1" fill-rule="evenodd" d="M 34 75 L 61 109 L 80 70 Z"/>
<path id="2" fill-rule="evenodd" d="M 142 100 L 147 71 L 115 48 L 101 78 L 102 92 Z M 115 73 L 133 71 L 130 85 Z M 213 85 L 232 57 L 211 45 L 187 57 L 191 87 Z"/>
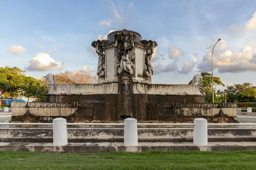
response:
<path id="1" fill-rule="evenodd" d="M 157 42 L 128 30 L 108 34 L 92 46 L 99 55 L 98 84 L 58 84 L 47 74 L 44 102 L 12 103 L 12 122 L 236 122 L 235 103 L 205 103 L 202 77 L 190 85 L 151 84 Z"/>

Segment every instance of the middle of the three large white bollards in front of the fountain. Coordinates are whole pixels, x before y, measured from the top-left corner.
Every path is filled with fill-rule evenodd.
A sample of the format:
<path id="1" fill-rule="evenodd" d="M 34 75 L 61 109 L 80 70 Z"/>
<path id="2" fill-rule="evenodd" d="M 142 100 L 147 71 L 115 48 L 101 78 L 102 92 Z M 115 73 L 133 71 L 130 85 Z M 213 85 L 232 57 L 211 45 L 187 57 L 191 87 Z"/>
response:
<path id="1" fill-rule="evenodd" d="M 138 128 L 137 119 L 127 118 L 125 119 L 125 132 L 124 132 L 124 144 L 125 146 L 138 145 Z"/>

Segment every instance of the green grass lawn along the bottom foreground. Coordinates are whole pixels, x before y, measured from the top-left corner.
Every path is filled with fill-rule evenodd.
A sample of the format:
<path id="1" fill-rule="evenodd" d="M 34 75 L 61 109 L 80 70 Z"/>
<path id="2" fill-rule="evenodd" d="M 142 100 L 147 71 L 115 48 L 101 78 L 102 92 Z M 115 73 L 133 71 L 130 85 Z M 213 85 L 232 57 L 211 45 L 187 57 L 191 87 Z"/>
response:
<path id="1" fill-rule="evenodd" d="M 36 153 L 0 151 L 1 170 L 254 170 L 256 151 Z"/>

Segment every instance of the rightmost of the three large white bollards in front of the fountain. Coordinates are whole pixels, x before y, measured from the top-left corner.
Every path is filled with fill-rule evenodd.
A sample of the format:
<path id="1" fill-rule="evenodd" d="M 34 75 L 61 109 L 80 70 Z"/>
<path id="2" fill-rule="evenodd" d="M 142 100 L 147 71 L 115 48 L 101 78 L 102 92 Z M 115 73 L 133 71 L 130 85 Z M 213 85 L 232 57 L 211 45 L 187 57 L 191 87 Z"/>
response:
<path id="1" fill-rule="evenodd" d="M 194 138 L 195 145 L 207 145 L 208 144 L 208 132 L 207 132 L 207 119 L 197 118 L 194 119 Z"/>

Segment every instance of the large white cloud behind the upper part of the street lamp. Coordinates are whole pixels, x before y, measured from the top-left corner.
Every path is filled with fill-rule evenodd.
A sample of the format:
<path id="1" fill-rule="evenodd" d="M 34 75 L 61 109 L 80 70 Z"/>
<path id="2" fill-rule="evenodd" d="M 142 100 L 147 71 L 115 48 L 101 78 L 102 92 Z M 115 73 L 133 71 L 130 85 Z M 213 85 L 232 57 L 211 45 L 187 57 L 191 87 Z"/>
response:
<path id="1" fill-rule="evenodd" d="M 198 65 L 200 71 L 211 70 L 212 48 L 218 38 L 213 37 L 212 44 L 207 48 L 203 61 Z M 230 51 L 227 43 L 221 40 L 216 44 L 213 52 L 213 67 L 218 72 L 238 73 L 256 71 L 256 48 L 246 46 L 240 52 Z"/>

